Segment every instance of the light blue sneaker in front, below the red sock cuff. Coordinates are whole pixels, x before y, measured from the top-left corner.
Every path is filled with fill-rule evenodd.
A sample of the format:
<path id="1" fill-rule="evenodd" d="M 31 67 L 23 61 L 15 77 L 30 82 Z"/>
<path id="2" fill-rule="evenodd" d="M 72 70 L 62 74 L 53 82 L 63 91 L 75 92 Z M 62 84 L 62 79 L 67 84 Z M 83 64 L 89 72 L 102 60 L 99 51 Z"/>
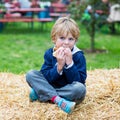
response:
<path id="1" fill-rule="evenodd" d="M 55 100 L 55 103 L 66 113 L 71 113 L 76 105 L 75 102 L 65 100 L 64 98 L 59 98 Z"/>

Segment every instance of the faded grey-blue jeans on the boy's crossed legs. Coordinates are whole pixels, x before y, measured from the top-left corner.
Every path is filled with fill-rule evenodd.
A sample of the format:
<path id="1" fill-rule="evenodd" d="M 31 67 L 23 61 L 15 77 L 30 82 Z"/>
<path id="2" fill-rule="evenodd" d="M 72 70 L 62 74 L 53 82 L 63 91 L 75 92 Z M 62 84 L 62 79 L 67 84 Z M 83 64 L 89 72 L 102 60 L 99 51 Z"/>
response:
<path id="1" fill-rule="evenodd" d="M 26 74 L 26 80 L 33 88 L 40 101 L 46 102 L 53 96 L 60 96 L 70 101 L 80 103 L 86 95 L 86 87 L 80 82 L 73 82 L 61 88 L 54 88 L 40 71 L 31 70 Z"/>

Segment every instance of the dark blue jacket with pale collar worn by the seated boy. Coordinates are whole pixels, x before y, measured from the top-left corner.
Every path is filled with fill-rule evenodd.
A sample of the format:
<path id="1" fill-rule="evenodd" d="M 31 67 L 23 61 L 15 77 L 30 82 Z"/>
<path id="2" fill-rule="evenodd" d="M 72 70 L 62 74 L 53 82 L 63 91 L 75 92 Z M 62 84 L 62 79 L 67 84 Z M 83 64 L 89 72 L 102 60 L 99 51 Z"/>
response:
<path id="1" fill-rule="evenodd" d="M 45 52 L 41 72 L 52 86 L 63 87 L 67 84 L 71 84 L 73 81 L 85 84 L 87 73 L 84 54 L 76 46 L 74 46 L 72 54 L 74 64 L 68 69 L 64 67 L 62 75 L 60 75 L 57 72 L 57 60 L 53 56 L 53 48 Z"/>

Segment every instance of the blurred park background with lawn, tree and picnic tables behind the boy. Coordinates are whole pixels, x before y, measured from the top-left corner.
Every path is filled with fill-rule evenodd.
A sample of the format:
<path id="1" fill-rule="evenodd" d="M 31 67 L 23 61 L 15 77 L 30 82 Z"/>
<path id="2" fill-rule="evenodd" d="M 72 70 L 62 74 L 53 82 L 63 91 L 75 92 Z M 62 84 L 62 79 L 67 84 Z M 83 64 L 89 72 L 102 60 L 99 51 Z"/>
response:
<path id="1" fill-rule="evenodd" d="M 39 70 L 61 16 L 78 23 L 88 70 L 120 68 L 119 0 L 0 0 L 0 71 Z"/>

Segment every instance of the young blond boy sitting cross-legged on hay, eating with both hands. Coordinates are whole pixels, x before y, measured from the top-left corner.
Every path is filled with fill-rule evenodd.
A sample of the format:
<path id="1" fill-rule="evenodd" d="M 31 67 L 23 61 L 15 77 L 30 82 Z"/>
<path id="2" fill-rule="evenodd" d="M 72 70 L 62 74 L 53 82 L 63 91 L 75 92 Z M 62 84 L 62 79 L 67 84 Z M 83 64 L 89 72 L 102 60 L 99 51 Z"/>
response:
<path id="1" fill-rule="evenodd" d="M 86 95 L 86 60 L 76 47 L 79 27 L 73 19 L 59 18 L 51 31 L 54 47 L 44 55 L 40 71 L 31 70 L 26 75 L 30 85 L 31 101 L 52 101 L 66 113 L 71 113 L 76 103 Z"/>

